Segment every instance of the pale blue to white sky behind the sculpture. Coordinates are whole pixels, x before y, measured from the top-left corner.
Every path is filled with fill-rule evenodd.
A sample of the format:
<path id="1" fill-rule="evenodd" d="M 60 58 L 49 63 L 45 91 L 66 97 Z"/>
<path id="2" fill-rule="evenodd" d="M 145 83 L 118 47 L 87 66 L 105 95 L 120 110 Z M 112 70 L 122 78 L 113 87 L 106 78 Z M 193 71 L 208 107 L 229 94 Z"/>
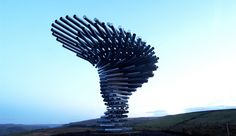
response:
<path id="1" fill-rule="evenodd" d="M 103 114 L 96 69 L 51 35 L 55 19 L 74 14 L 155 47 L 159 69 L 131 96 L 130 117 L 236 107 L 234 0 L 0 0 L 0 124 Z"/>

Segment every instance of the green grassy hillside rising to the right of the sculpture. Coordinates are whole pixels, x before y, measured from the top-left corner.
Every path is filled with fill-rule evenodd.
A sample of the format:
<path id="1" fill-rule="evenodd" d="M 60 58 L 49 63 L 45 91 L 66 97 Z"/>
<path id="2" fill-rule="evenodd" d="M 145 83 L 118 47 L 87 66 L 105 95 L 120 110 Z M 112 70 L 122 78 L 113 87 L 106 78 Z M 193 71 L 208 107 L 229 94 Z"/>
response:
<path id="1" fill-rule="evenodd" d="M 134 128 L 196 136 L 236 136 L 236 110 L 203 111 L 165 116 L 136 124 Z"/>

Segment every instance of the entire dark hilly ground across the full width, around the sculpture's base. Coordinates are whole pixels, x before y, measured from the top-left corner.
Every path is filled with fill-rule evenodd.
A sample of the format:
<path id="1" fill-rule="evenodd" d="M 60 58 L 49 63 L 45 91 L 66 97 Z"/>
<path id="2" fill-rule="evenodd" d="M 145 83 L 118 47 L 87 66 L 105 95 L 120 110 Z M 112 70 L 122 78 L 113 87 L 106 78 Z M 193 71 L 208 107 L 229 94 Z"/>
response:
<path id="1" fill-rule="evenodd" d="M 236 136 L 236 109 L 200 111 L 163 117 L 129 118 L 129 135 Z M 104 135 L 96 132 L 97 119 L 50 128 L 50 125 L 0 125 L 0 136 Z M 107 134 L 106 134 L 107 135 Z M 109 134 L 110 135 L 110 134 Z M 116 134 L 117 135 L 117 134 Z"/>

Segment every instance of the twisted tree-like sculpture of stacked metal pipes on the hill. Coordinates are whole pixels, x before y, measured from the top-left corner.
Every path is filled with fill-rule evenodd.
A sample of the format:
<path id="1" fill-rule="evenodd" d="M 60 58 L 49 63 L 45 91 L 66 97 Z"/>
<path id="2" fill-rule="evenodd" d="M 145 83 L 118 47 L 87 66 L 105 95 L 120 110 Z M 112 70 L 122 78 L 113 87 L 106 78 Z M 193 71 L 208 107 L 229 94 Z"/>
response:
<path id="1" fill-rule="evenodd" d="M 100 126 L 105 131 L 125 131 L 128 98 L 157 69 L 154 47 L 136 34 L 111 23 L 74 15 L 55 20 L 52 35 L 68 50 L 98 68 L 100 89 L 107 106 Z"/>

